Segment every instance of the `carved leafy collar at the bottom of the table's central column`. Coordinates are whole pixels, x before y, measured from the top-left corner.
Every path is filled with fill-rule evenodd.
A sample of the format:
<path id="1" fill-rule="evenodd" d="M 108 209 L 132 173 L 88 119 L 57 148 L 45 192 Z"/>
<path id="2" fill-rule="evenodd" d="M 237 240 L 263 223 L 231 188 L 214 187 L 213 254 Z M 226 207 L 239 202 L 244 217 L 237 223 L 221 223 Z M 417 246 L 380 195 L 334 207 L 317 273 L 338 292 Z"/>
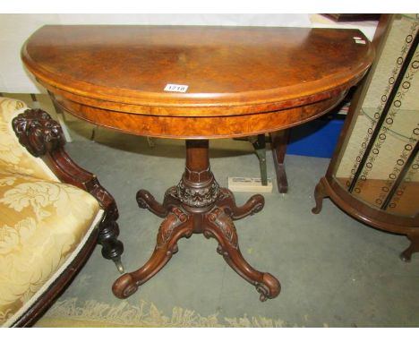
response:
<path id="1" fill-rule="evenodd" d="M 184 178 L 177 184 L 176 197 L 192 208 L 205 208 L 218 200 L 219 185 L 214 178 L 204 186 L 192 186 L 184 182 Z"/>

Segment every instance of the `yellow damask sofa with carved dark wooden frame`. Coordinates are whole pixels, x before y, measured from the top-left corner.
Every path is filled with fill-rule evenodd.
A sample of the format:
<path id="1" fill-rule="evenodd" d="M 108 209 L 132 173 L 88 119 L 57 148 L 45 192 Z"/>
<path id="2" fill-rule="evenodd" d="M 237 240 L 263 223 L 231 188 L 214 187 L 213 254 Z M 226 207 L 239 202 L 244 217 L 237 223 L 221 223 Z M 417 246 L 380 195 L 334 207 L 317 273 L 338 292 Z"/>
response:
<path id="1" fill-rule="evenodd" d="M 117 218 L 114 198 L 64 151 L 60 125 L 0 98 L 0 326 L 37 321 L 96 244 L 123 272 Z"/>

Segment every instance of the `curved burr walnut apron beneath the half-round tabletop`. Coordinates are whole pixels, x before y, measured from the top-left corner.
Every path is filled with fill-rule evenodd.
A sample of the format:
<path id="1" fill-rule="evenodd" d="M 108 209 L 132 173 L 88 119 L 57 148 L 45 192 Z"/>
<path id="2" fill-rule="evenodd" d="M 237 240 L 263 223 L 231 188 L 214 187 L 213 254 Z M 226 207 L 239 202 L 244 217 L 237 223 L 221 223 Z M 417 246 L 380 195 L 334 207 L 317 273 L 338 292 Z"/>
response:
<path id="1" fill-rule="evenodd" d="M 74 116 L 124 133 L 171 139 L 218 139 L 277 132 L 327 113 L 345 98 L 347 90 L 304 106 L 246 115 L 180 116 L 127 113 L 75 102 L 59 94 L 55 100 Z M 98 105 L 98 104 L 96 104 Z M 207 108 L 208 109 L 208 108 Z M 218 108 L 219 109 L 219 108 Z M 197 109 L 201 113 L 201 109 Z"/>

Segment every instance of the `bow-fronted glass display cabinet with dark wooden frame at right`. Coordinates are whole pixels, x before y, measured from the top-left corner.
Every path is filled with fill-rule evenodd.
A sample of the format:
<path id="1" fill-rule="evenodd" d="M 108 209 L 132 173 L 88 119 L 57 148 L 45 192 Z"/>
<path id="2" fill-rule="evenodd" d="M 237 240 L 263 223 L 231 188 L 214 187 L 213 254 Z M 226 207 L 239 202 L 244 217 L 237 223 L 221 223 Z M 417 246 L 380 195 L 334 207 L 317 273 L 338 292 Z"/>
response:
<path id="1" fill-rule="evenodd" d="M 391 33 L 395 28 L 404 39 L 398 39 L 396 45 L 389 41 L 396 35 Z M 400 254 L 403 261 L 410 261 L 412 254 L 419 252 L 419 91 L 413 82 L 419 70 L 418 32 L 418 14 L 381 15 L 372 40 L 376 59 L 355 91 L 328 171 L 315 188 L 316 207 L 312 209 L 320 213 L 323 198 L 329 197 L 340 209 L 370 227 L 406 235 L 411 244 Z M 383 56 L 383 52 L 387 55 Z M 391 65 L 385 73 L 379 64 L 389 55 Z M 378 85 L 373 81 L 375 73 L 382 80 Z M 372 88 L 379 91 L 374 98 L 369 93 Z M 369 121 L 362 118 L 368 124 L 363 124 L 356 141 L 352 135 L 355 128 L 360 131 L 360 124 L 355 125 L 361 115 L 366 116 L 364 102 L 368 96 L 376 106 L 370 106 Z M 350 149 L 352 160 L 348 163 Z M 346 170 L 342 171 L 345 163 Z M 379 173 L 381 176 L 377 176 Z"/>

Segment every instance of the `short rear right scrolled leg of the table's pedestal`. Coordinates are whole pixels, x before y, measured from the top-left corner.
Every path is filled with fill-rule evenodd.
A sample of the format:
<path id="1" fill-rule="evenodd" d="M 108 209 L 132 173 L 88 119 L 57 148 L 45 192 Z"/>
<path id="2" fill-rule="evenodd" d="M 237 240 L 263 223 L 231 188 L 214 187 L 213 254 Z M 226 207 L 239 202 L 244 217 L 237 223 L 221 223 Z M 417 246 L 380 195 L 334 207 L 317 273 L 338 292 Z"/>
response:
<path id="1" fill-rule="evenodd" d="M 255 194 L 243 206 L 237 207 L 233 192 L 226 188 L 220 188 L 220 195 L 216 205 L 223 208 L 231 218 L 240 219 L 261 211 L 265 205 L 265 199 L 262 195 Z"/>

